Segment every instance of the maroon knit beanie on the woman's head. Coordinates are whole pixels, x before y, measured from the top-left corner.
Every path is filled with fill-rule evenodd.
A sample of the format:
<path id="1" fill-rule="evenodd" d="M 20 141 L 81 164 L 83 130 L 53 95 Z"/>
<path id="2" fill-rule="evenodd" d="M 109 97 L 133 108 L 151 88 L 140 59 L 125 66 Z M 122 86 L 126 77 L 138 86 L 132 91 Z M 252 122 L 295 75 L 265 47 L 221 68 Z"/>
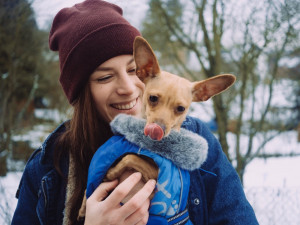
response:
<path id="1" fill-rule="evenodd" d="M 101 0 L 86 0 L 60 10 L 53 20 L 49 46 L 59 52 L 60 83 L 70 102 L 103 62 L 132 54 L 140 32 L 122 16 L 122 9 Z"/>

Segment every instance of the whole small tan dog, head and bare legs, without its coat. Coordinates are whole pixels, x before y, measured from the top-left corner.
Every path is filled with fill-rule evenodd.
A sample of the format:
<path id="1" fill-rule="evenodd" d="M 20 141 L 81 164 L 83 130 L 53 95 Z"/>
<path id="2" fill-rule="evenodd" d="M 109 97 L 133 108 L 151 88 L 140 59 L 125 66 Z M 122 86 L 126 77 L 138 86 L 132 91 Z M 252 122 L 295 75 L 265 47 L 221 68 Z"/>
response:
<path id="1" fill-rule="evenodd" d="M 156 56 L 142 38 L 134 41 L 134 59 L 136 74 L 145 83 L 143 95 L 144 117 L 147 120 L 144 133 L 153 140 L 161 140 L 171 129 L 180 130 L 192 102 L 206 101 L 229 88 L 235 82 L 235 76 L 224 74 L 207 80 L 190 82 L 185 78 L 161 71 Z M 125 199 L 127 202 L 149 179 L 157 180 L 158 167 L 150 158 L 134 154 L 124 156 L 111 167 L 105 181 L 118 179 L 122 182 L 133 172 L 142 173 L 142 180 Z M 153 197 L 154 193 L 152 194 Z M 85 201 L 79 212 L 84 217 Z"/>

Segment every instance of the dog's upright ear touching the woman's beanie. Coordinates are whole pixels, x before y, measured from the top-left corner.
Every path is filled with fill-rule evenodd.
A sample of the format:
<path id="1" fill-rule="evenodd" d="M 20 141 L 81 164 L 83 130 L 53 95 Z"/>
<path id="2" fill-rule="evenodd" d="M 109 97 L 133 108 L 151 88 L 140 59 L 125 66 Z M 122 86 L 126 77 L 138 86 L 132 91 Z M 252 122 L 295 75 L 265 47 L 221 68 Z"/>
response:
<path id="1" fill-rule="evenodd" d="M 136 37 L 133 44 L 133 57 L 137 76 L 145 82 L 146 78 L 158 76 L 160 68 L 150 44 L 142 37 Z"/>

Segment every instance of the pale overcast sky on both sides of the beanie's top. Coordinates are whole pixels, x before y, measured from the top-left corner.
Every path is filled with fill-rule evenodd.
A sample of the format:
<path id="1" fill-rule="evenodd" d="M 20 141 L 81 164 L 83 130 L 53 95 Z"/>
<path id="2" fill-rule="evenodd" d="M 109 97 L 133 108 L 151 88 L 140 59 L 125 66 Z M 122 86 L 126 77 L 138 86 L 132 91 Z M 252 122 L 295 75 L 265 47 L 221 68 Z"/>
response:
<path id="1" fill-rule="evenodd" d="M 83 0 L 33 0 L 32 6 L 36 14 L 38 26 L 47 28 L 52 23 L 56 13 L 64 8 L 71 7 Z M 119 5 L 125 18 L 133 25 L 140 28 L 141 20 L 148 9 L 147 0 L 106 0 Z"/>

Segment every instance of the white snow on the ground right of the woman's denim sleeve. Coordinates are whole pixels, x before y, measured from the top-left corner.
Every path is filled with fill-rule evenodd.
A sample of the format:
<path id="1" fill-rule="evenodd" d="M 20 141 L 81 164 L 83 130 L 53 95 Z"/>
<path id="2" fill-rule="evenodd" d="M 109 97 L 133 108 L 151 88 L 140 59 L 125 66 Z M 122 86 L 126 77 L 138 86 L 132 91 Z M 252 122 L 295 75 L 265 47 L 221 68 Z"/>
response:
<path id="1" fill-rule="evenodd" d="M 297 132 L 283 133 L 265 152 L 300 152 Z M 261 225 L 300 224 L 300 156 L 254 159 L 244 175 L 246 196 Z"/>

